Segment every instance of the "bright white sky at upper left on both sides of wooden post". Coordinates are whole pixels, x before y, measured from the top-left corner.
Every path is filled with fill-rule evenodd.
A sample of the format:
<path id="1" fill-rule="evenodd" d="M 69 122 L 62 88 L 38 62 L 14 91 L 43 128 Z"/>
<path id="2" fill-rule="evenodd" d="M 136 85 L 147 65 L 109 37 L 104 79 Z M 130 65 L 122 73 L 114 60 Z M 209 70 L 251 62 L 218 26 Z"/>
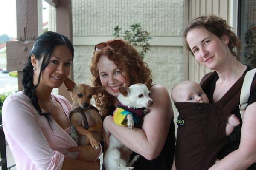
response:
<path id="1" fill-rule="evenodd" d="M 49 5 L 43 0 L 43 23 L 48 21 Z M 0 35 L 17 37 L 16 0 L 0 0 Z"/>

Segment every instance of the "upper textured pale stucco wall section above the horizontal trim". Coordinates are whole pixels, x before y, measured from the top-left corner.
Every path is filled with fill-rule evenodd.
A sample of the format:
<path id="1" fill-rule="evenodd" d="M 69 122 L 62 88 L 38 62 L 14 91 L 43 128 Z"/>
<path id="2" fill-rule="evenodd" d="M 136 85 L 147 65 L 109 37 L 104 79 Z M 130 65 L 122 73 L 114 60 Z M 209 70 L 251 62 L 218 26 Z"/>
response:
<path id="1" fill-rule="evenodd" d="M 141 23 L 152 36 L 180 36 L 182 0 L 72 0 L 74 36 L 112 36 Z"/>

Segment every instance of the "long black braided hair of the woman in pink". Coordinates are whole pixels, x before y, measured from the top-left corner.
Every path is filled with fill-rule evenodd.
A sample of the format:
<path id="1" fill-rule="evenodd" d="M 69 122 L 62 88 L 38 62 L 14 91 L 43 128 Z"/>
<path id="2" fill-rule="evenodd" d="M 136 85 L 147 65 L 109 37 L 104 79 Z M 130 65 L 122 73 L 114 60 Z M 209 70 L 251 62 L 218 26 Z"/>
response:
<path id="1" fill-rule="evenodd" d="M 51 122 L 51 116 L 49 113 L 43 113 L 39 104 L 38 104 L 38 97 L 35 94 L 35 89 L 38 87 L 40 83 L 40 78 L 41 78 L 41 72 L 44 70 L 47 65 L 49 64 L 50 57 L 52 56 L 52 52 L 54 48 L 57 45 L 65 45 L 67 46 L 71 53 L 72 53 L 72 59 L 74 57 L 74 48 L 70 40 L 68 40 L 67 37 L 65 37 L 62 34 L 58 34 L 56 32 L 51 32 L 48 31 L 42 35 L 40 35 L 36 40 L 33 45 L 32 50 L 30 51 L 29 57 L 28 57 L 28 62 L 23 69 L 23 79 L 22 79 L 22 85 L 24 88 L 25 94 L 31 99 L 32 105 L 35 107 L 35 109 L 38 111 L 38 114 L 41 116 L 44 116 L 49 125 Z M 34 54 L 35 58 L 39 61 L 42 57 L 42 64 L 40 68 L 40 73 L 38 77 L 38 83 L 37 85 L 33 85 L 33 65 L 31 63 L 31 56 Z"/>

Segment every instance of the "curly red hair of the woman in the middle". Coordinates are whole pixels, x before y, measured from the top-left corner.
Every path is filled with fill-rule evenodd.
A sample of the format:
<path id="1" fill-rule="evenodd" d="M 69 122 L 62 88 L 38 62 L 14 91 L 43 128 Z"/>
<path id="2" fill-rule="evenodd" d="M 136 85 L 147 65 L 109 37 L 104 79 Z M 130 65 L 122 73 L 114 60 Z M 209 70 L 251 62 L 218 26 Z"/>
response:
<path id="1" fill-rule="evenodd" d="M 128 41 L 123 40 L 123 42 L 124 45 L 119 47 L 111 47 L 108 45 L 99 51 L 94 51 L 90 65 L 90 72 L 92 74 L 94 86 L 102 85 L 99 78 L 99 70 L 97 68 L 97 63 L 102 55 L 107 56 L 108 59 L 113 61 L 120 70 L 123 71 L 123 68 L 126 68 L 130 77 L 131 85 L 135 83 L 144 83 L 148 79 L 152 78 L 151 70 L 148 68 L 148 65 L 143 62 L 138 51 Z M 107 115 L 109 108 L 113 106 L 114 97 L 108 94 L 107 91 L 104 91 L 96 94 L 94 98 L 101 115 Z"/>

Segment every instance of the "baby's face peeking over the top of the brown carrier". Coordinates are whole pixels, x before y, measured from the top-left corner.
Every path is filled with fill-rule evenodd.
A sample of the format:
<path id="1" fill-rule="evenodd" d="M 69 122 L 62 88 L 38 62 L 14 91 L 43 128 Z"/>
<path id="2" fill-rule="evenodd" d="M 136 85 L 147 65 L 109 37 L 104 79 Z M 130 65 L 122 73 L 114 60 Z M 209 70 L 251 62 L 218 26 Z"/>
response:
<path id="1" fill-rule="evenodd" d="M 177 102 L 209 103 L 201 86 L 195 82 L 180 85 Z"/>

